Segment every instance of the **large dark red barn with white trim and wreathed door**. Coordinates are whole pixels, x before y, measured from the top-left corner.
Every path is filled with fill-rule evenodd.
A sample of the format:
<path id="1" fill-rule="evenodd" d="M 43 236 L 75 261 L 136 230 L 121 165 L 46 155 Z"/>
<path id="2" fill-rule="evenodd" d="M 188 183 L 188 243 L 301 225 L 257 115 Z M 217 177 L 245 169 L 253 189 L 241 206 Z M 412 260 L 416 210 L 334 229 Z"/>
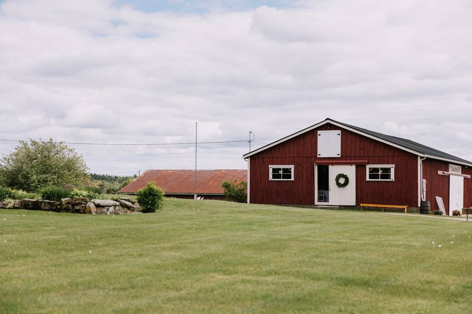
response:
<path id="1" fill-rule="evenodd" d="M 439 196 L 449 214 L 472 206 L 472 162 L 331 119 L 243 157 L 250 203 L 417 209 L 423 199 L 434 210 Z"/>

